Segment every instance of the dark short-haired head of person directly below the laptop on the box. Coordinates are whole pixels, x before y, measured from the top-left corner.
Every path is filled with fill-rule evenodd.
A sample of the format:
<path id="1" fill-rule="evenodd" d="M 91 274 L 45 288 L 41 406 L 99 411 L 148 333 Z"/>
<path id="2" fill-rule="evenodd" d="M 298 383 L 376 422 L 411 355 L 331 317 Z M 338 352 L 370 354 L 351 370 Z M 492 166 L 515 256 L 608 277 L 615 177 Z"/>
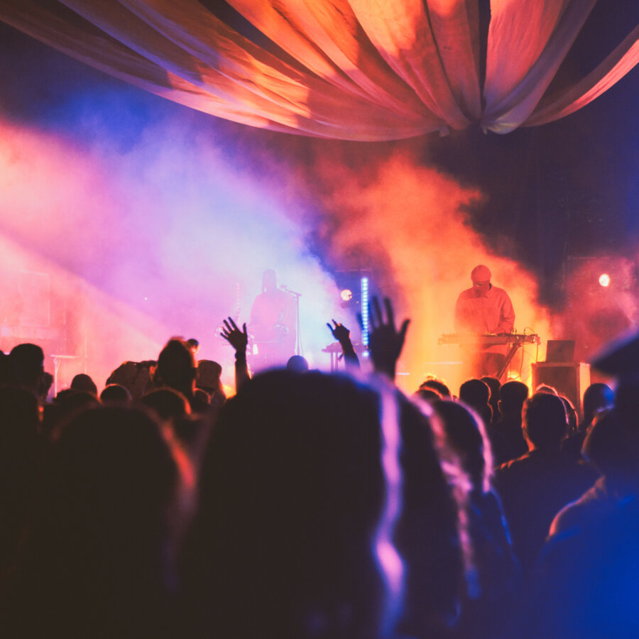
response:
<path id="1" fill-rule="evenodd" d="M 559 446 L 568 429 L 568 417 L 562 399 L 550 393 L 535 393 L 526 401 L 523 432 L 536 448 Z"/>

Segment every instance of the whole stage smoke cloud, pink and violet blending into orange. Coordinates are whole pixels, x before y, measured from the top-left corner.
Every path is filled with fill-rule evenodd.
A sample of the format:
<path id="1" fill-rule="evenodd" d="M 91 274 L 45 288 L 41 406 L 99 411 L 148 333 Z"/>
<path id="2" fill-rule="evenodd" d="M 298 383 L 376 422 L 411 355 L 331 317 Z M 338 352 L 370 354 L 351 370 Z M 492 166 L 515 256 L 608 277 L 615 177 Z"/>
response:
<path id="1" fill-rule="evenodd" d="M 241 127 L 229 134 L 210 119 L 202 130 L 201 116 L 175 107 L 149 119 L 127 104 L 117 92 L 84 96 L 38 128 L 0 121 L 2 268 L 25 290 L 31 276 L 18 271 L 49 275 L 51 322 L 65 322 L 65 347 L 78 358 L 65 363 L 67 377 L 86 367 L 104 383 L 121 361 L 155 359 L 178 334 L 198 339 L 198 356 L 219 361 L 232 383 L 232 349 L 217 329 L 228 315 L 249 320 L 266 268 L 302 293 L 303 354 L 323 369 L 327 320 L 359 339 L 331 273 L 370 270 L 398 322 L 412 320 L 398 379 L 410 392 L 427 374 L 453 391 L 466 378 L 459 349 L 437 338 L 452 332 L 477 263 L 508 290 L 515 327 L 550 337 L 535 279 L 471 227 L 468 210 L 489 207 L 485 196 L 424 166 L 410 144 L 383 155 Z M 523 378 L 535 356 L 527 348 L 515 361 Z"/>

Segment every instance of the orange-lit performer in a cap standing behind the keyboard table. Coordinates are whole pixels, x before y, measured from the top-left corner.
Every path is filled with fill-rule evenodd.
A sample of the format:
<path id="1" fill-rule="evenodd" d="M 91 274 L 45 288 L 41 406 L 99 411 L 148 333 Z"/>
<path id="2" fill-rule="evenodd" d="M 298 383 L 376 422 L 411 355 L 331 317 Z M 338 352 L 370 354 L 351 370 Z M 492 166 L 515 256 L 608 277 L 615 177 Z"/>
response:
<path id="1" fill-rule="evenodd" d="M 513 302 L 503 288 L 491 284 L 491 271 L 480 264 L 471 271 L 472 288 L 462 291 L 455 304 L 455 332 L 510 333 L 515 325 Z M 469 351 L 476 377 L 497 375 L 506 359 L 506 346 L 484 346 Z"/>

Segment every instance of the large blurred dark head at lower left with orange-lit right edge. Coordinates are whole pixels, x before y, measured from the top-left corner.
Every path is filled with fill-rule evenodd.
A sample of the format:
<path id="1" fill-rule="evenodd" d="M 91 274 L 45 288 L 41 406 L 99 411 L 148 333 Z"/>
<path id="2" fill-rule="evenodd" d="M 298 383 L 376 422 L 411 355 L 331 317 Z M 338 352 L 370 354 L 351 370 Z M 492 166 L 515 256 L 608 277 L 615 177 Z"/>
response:
<path id="1" fill-rule="evenodd" d="M 169 513 L 186 469 L 174 452 L 139 408 L 84 410 L 62 425 L 17 562 L 32 613 L 21 616 L 26 636 L 160 635 L 172 579 Z"/>

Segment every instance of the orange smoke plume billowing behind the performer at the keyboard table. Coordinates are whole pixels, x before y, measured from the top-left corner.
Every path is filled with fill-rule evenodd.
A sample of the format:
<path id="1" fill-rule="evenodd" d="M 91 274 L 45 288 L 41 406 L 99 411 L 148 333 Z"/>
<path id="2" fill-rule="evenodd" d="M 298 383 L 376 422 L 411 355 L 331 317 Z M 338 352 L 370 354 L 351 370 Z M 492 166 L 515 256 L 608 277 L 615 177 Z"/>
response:
<path id="1" fill-rule="evenodd" d="M 389 272 L 376 284 L 395 302 L 397 322 L 412 320 L 399 368 L 408 375 L 398 376 L 400 386 L 413 392 L 435 374 L 457 393 L 467 378 L 459 347 L 439 346 L 437 338 L 452 332 L 457 295 L 470 288 L 471 270 L 479 263 L 491 268 L 493 284 L 513 300 L 515 328 L 532 329 L 544 341 L 551 337 L 547 312 L 535 302 L 535 278 L 518 263 L 491 253 L 471 229 L 464 209 L 481 202 L 480 192 L 418 165 L 408 154 L 395 154 L 357 173 L 346 165 L 331 158 L 320 160 L 317 168 L 324 182 L 334 185 L 326 204 L 341 221 L 331 250 L 338 263 L 359 254 L 369 260 L 361 266 L 376 269 L 378 278 Z M 513 360 L 524 381 L 536 354 L 537 347 L 529 345 L 523 363 L 520 357 Z"/>

